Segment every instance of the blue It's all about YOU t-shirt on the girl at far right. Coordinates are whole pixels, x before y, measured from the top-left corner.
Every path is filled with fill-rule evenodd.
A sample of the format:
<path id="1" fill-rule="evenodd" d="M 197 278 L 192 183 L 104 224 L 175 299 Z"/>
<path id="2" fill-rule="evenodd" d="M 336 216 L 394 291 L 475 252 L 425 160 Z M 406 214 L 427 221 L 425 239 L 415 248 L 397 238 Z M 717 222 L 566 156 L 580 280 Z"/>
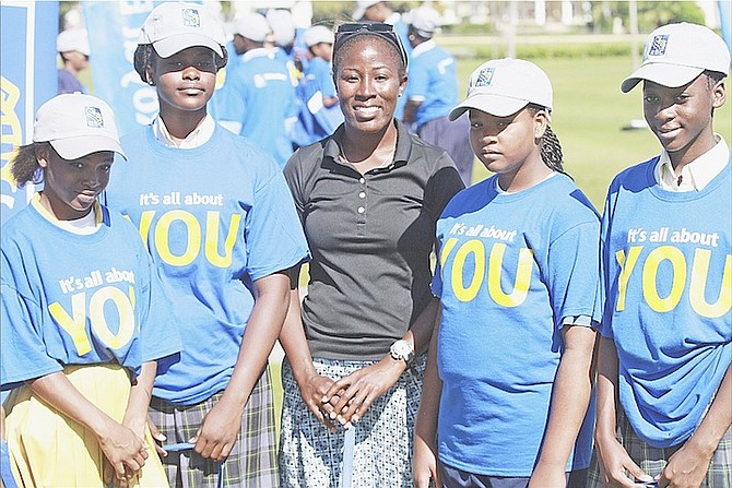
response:
<path id="1" fill-rule="evenodd" d="M 602 334 L 619 398 L 647 443 L 688 439 L 732 360 L 731 164 L 701 191 L 656 183 L 658 157 L 613 180 L 602 218 Z"/>

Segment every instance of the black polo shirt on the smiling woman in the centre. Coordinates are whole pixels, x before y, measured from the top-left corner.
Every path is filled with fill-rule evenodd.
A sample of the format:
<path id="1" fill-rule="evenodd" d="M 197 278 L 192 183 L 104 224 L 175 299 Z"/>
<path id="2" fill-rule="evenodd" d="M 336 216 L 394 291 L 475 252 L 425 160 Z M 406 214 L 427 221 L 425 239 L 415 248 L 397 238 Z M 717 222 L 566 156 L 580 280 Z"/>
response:
<path id="1" fill-rule="evenodd" d="M 284 175 L 310 246 L 303 322 L 314 357 L 380 359 L 429 301 L 435 223 L 463 188 L 448 154 L 397 121 L 393 162 L 343 163 L 343 126 L 300 147 Z"/>

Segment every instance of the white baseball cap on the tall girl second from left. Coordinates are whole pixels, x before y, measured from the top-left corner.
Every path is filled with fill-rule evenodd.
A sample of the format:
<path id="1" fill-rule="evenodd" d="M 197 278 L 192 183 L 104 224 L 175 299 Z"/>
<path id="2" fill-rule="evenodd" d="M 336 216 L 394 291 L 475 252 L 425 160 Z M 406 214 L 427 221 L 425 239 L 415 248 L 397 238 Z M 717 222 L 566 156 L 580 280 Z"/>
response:
<path id="1" fill-rule="evenodd" d="M 150 12 L 138 44 L 152 44 L 161 58 L 193 46 L 203 46 L 224 57 L 224 26 L 216 12 L 198 3 L 165 2 Z"/>

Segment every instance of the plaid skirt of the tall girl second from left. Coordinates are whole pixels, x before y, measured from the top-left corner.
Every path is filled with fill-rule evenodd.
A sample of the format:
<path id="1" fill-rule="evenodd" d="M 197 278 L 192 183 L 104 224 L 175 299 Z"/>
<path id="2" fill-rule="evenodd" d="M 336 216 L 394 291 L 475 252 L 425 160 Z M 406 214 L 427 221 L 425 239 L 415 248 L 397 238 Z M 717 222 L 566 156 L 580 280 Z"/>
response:
<path id="1" fill-rule="evenodd" d="M 150 418 L 167 438 L 166 443 L 185 443 L 196 435 L 203 417 L 222 394 L 186 406 L 153 397 Z M 269 366 L 249 395 L 237 441 L 225 461 L 216 463 L 192 450 L 169 452 L 162 461 L 170 486 L 176 488 L 278 487 L 274 398 Z"/>

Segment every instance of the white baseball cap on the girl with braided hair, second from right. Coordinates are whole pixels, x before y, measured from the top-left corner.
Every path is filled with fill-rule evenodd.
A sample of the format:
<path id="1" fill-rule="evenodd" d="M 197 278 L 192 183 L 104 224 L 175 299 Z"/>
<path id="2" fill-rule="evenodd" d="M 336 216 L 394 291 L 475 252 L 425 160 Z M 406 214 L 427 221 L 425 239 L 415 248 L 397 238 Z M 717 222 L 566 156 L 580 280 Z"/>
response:
<path id="1" fill-rule="evenodd" d="M 545 107 L 551 116 L 552 83 L 546 73 L 522 59 L 493 59 L 470 75 L 468 98 L 450 110 L 449 118 L 456 120 L 470 108 L 506 117 L 529 104 Z"/>

